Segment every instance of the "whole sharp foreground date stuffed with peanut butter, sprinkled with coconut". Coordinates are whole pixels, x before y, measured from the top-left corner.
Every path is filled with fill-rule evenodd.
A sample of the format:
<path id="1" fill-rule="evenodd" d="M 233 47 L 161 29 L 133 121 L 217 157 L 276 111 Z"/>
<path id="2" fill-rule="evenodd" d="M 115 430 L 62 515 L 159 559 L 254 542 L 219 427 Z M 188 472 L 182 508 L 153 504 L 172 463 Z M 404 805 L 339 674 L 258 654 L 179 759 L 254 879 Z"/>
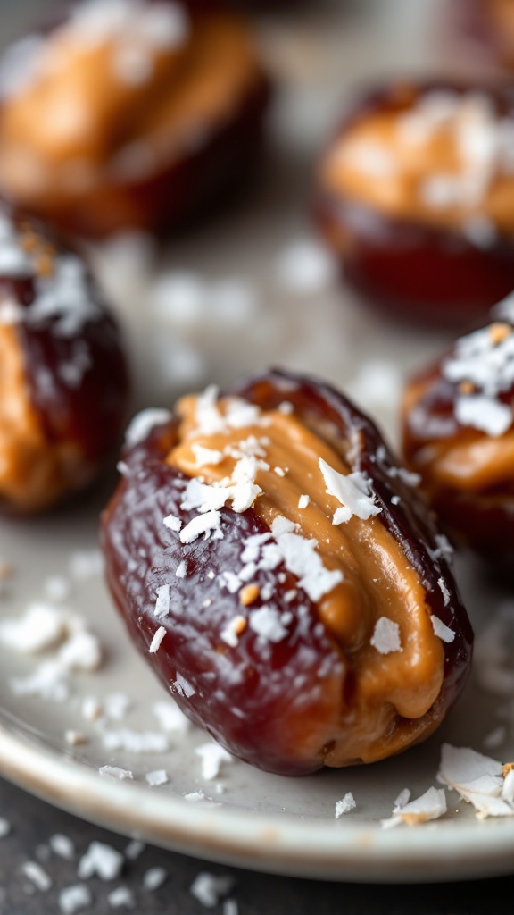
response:
<path id="1" fill-rule="evenodd" d="M 433 733 L 472 632 L 412 475 L 327 385 L 273 371 L 129 426 L 107 579 L 177 703 L 299 775 Z"/>

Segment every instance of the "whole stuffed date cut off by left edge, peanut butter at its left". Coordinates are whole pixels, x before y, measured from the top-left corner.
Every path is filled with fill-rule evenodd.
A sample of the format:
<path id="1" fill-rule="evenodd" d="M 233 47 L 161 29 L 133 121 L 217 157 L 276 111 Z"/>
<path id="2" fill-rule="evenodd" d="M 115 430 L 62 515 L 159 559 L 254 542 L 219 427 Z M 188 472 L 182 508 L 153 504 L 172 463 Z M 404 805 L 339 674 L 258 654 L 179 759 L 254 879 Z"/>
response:
<path id="1" fill-rule="evenodd" d="M 0 204 L 0 506 L 41 511 L 89 485 L 128 400 L 121 334 L 86 264 Z"/>

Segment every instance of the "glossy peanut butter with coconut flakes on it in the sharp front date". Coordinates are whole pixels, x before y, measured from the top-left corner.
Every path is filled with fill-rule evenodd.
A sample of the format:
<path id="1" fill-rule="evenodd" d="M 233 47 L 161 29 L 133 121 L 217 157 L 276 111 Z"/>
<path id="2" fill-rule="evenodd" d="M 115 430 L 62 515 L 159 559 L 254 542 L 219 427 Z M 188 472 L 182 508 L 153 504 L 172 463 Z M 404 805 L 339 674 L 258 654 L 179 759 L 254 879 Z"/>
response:
<path id="1" fill-rule="evenodd" d="M 370 482 L 363 476 L 351 482 L 360 475 L 350 474 L 342 452 L 285 410 L 261 411 L 235 398 L 217 401 L 210 392 L 183 399 L 177 412 L 179 442 L 167 463 L 206 486 L 203 511 L 220 505 L 226 495 L 236 511 L 252 507 L 269 526 L 286 567 L 294 569 L 298 587 L 316 604 L 355 675 L 352 737 L 345 735 L 341 752 L 345 759 L 348 749 L 355 759 L 369 759 L 369 746 L 377 752 L 376 744 L 396 714 L 425 715 L 444 673 L 444 649 L 434 633 L 423 585 L 380 522 Z M 337 475 L 350 490 L 359 483 L 358 495 L 345 506 L 332 494 L 338 493 Z M 247 495 L 239 509 L 238 485 Z M 208 489 L 220 500 L 209 501 Z M 295 567 L 288 546 L 301 554 L 302 568 Z M 312 554 L 318 564 L 314 584 Z M 256 611 L 253 602 L 244 604 L 242 599 L 241 612 L 248 613 L 252 628 Z M 398 748 L 402 740 L 399 734 Z M 330 765 L 337 765 L 337 752 L 337 745 L 327 750 Z"/>

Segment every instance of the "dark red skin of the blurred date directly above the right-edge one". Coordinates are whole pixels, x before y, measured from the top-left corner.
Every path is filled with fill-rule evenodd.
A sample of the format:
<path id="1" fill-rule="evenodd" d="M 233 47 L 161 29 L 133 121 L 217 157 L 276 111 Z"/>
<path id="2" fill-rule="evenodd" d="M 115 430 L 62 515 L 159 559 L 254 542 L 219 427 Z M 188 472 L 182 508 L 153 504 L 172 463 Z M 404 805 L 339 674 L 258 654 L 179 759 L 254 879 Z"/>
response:
<path id="1" fill-rule="evenodd" d="M 412 99 L 426 92 L 467 92 L 470 84 L 426 82 L 412 87 Z M 510 87 L 476 87 L 498 113 L 514 116 Z M 369 92 L 339 126 L 335 140 L 369 113 L 402 110 L 395 87 Z M 498 234 L 479 248 L 464 234 L 394 219 L 358 199 L 320 188 L 314 201 L 320 231 L 344 267 L 345 279 L 369 305 L 412 324 L 460 328 L 483 317 L 514 288 L 514 242 Z"/>

